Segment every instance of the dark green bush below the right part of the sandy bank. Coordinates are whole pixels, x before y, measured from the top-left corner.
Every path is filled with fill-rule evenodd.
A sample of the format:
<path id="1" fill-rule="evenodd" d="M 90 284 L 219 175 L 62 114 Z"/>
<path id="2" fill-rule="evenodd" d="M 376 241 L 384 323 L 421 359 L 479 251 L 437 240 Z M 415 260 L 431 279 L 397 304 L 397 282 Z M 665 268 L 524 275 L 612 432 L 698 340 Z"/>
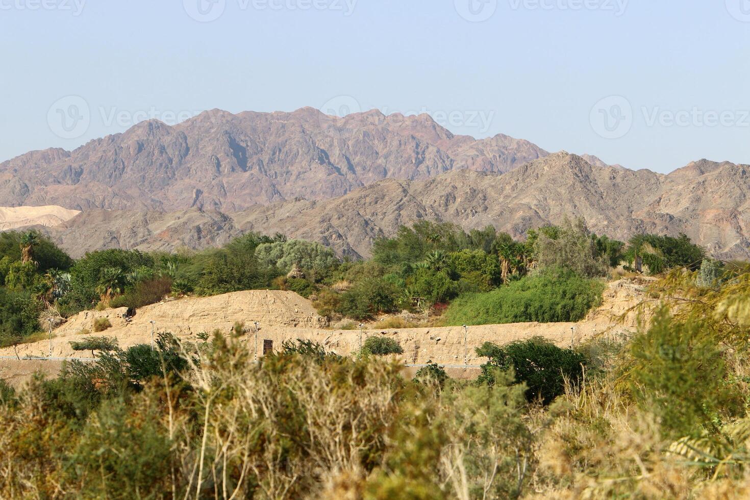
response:
<path id="1" fill-rule="evenodd" d="M 586 365 L 583 355 L 541 337 L 502 347 L 486 342 L 476 353 L 489 358 L 481 367 L 479 383 L 495 383 L 495 369 L 512 370 L 515 383 L 526 385 L 526 400 L 541 400 L 545 405 L 565 392 L 566 380 L 578 385 Z"/>

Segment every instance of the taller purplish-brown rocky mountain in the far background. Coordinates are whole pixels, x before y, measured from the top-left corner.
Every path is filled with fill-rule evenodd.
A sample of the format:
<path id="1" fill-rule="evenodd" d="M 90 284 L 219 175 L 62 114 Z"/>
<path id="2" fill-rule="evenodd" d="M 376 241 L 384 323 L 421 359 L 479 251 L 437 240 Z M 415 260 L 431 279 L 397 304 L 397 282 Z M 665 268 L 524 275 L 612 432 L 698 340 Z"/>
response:
<path id="1" fill-rule="evenodd" d="M 74 151 L 32 151 L 0 163 L 0 206 L 235 212 L 343 196 L 384 178 L 508 172 L 546 155 L 502 134 L 455 136 L 429 115 L 214 109 L 172 127 L 143 121 Z"/>

